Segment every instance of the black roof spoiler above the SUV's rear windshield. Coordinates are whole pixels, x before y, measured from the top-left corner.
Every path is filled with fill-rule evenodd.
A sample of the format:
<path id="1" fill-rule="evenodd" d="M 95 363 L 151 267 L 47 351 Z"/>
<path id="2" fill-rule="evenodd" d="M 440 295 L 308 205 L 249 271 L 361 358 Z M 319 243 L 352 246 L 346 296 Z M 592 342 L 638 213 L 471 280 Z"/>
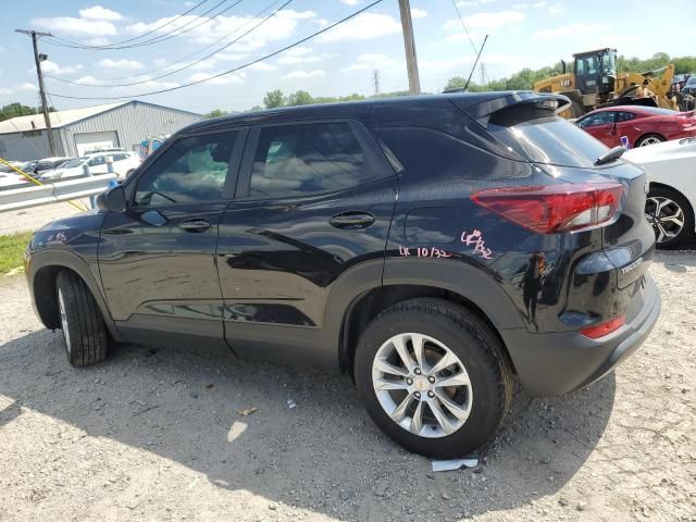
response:
<path id="1" fill-rule="evenodd" d="M 474 97 L 452 97 L 450 101 L 467 115 L 473 117 L 484 127 L 488 126 L 490 116 L 500 111 L 506 113 L 522 112 L 529 113 L 531 105 L 540 115 L 558 114 L 570 105 L 570 98 L 563 95 L 550 95 L 545 92 L 533 92 L 530 90 L 512 90 L 499 92 L 498 97 L 489 97 L 484 101 Z M 529 119 L 529 117 L 527 117 Z"/>

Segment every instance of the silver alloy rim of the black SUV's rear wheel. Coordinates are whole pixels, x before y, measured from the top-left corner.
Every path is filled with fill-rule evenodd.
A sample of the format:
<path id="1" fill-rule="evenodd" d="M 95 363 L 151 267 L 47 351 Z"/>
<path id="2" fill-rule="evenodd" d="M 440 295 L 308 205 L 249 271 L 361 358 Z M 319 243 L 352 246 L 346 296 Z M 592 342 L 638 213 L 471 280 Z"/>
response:
<path id="1" fill-rule="evenodd" d="M 451 435 L 471 413 L 473 390 L 464 364 L 427 335 L 403 333 L 384 343 L 372 363 L 372 385 L 387 415 L 420 437 Z"/>

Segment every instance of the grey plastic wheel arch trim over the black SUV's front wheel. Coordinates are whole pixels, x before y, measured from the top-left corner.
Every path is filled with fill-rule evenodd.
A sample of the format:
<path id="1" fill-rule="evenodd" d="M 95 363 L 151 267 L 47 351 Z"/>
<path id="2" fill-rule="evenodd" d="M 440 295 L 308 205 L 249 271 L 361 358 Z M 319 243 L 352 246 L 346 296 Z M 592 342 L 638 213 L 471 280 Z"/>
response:
<path id="1" fill-rule="evenodd" d="M 50 330 L 60 327 L 55 278 L 63 270 L 73 272 L 87 285 L 87 288 L 99 307 L 109 333 L 115 339 L 120 339 L 115 325 L 111 320 L 109 307 L 107 306 L 100 285 L 91 274 L 86 262 L 70 251 L 45 250 L 34 252 L 32 256 L 27 281 L 32 302 L 41 323 Z"/>

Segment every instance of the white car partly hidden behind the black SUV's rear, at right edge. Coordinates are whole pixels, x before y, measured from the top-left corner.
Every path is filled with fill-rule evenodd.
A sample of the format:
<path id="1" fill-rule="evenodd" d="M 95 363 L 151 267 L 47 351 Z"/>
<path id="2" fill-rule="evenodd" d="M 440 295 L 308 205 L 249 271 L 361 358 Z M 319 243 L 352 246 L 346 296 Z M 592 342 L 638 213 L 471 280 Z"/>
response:
<path id="1" fill-rule="evenodd" d="M 696 137 L 674 139 L 626 151 L 622 159 L 642 166 L 650 188 L 645 216 L 658 248 L 674 248 L 696 232 Z"/>

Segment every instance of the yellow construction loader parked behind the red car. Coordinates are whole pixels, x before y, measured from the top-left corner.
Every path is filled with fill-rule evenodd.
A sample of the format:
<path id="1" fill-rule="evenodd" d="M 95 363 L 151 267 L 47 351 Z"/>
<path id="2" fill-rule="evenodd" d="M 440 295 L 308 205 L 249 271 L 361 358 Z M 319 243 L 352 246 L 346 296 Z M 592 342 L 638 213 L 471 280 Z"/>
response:
<path id="1" fill-rule="evenodd" d="M 607 105 L 649 105 L 678 110 L 678 100 L 670 97 L 674 65 L 669 64 L 645 73 L 617 74 L 617 50 L 597 49 L 573 54 L 573 72 L 567 72 L 534 84 L 537 92 L 566 95 L 571 105 L 561 113 L 564 117 L 580 117 L 586 112 Z M 647 79 L 648 97 L 638 97 L 638 89 Z"/>

